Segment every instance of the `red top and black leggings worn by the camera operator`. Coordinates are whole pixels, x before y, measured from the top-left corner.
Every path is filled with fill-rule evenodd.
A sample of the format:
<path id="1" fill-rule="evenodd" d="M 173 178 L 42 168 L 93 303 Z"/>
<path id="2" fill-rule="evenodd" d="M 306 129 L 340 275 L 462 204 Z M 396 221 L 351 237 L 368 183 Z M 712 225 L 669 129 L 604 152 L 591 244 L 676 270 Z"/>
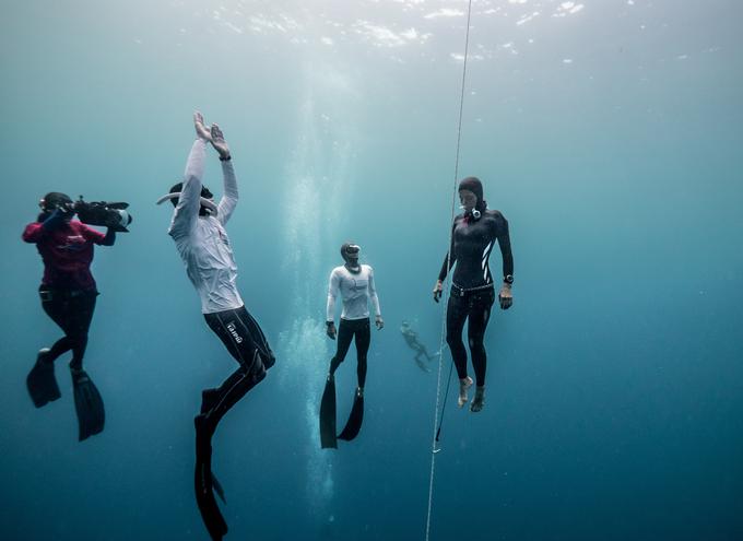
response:
<path id="1" fill-rule="evenodd" d="M 116 233 L 108 230 L 104 235 L 78 221 L 67 222 L 60 211 L 55 211 L 28 224 L 23 240 L 35 244 L 42 255 L 42 306 L 64 331 L 46 358 L 51 362 L 72 350 L 70 366 L 81 369 L 98 294 L 91 274 L 93 245 L 113 246 Z"/>

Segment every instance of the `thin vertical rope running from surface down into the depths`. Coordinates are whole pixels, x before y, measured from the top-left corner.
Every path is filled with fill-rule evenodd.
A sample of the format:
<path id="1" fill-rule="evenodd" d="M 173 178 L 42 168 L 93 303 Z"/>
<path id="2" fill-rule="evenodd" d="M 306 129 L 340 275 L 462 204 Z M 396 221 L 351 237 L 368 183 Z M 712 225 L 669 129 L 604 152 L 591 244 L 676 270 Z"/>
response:
<path id="1" fill-rule="evenodd" d="M 467 82 L 467 60 L 469 56 L 469 50 L 470 50 L 470 19 L 472 16 L 472 0 L 469 1 L 468 8 L 467 8 L 467 32 L 464 36 L 464 64 L 462 67 L 462 85 L 461 85 L 461 92 L 459 95 L 459 124 L 457 126 L 457 157 L 455 160 L 455 178 L 453 178 L 453 188 L 452 188 L 452 193 L 451 193 L 451 222 L 453 223 L 455 221 L 455 205 L 457 203 L 457 180 L 459 178 L 459 151 L 461 146 L 461 141 L 462 141 L 462 111 L 464 110 L 464 83 Z M 450 277 L 450 268 L 451 268 L 451 240 L 453 236 L 453 230 L 449 230 L 449 249 L 447 251 L 447 260 L 446 260 L 446 266 L 447 266 L 447 280 L 446 283 L 448 285 L 449 281 L 451 280 Z M 447 301 L 447 287 L 444 287 L 444 293 L 441 295 L 441 302 Z M 436 448 L 436 443 L 438 440 L 438 433 L 439 433 L 439 422 L 438 422 L 438 407 L 441 398 L 441 369 L 444 366 L 444 337 L 446 334 L 446 303 L 444 303 L 444 310 L 443 310 L 443 316 L 441 316 L 441 336 L 439 339 L 439 349 L 438 349 L 438 376 L 436 379 L 436 409 L 434 410 L 434 438 L 431 443 L 431 477 L 428 479 L 428 510 L 426 513 L 426 541 L 429 541 L 431 539 L 431 514 L 433 509 L 433 504 L 434 504 L 434 473 L 436 472 L 436 454 L 438 452 L 438 449 Z M 451 381 L 451 369 L 449 369 L 449 380 Z M 447 390 L 449 388 L 449 385 L 447 383 Z M 448 395 L 448 392 L 447 392 Z M 445 403 L 446 403 L 446 397 L 445 397 Z M 444 420 L 444 412 L 441 412 L 441 420 Z"/>

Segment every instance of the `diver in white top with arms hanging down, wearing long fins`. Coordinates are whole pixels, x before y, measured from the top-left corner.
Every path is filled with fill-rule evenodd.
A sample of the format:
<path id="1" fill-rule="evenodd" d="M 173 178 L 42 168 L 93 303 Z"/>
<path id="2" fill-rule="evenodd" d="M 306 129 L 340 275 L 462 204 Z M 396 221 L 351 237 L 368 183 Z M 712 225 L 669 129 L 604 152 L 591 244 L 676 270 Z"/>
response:
<path id="1" fill-rule="evenodd" d="M 369 302 L 374 308 L 375 325 L 380 330 L 385 327 L 379 309 L 379 298 L 374 283 L 374 269 L 358 262 L 361 248 L 358 245 L 345 243 L 341 246 L 341 256 L 345 264 L 335 267 L 330 273 L 328 285 L 328 305 L 326 332 L 335 340 L 338 350 L 330 361 L 330 371 L 326 380 L 326 390 L 320 404 L 320 443 L 325 447 L 337 447 L 335 443 L 335 383 L 334 375 L 345 358 L 351 341 L 356 339 L 356 376 L 358 387 L 354 405 L 345 428 L 338 435 L 340 439 L 351 440 L 358 434 L 364 416 L 364 384 L 366 383 L 366 354 L 371 341 L 369 326 Z M 335 299 L 343 299 L 343 311 L 338 331 L 335 330 Z"/>

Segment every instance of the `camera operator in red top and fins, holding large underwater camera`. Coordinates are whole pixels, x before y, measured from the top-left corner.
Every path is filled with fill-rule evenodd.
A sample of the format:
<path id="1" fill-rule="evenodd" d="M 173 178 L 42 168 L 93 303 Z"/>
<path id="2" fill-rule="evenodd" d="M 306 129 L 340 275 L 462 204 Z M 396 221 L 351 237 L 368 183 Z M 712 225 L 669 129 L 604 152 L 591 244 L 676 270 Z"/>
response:
<path id="1" fill-rule="evenodd" d="M 83 369 L 98 290 L 91 273 L 93 245 L 114 246 L 116 232 L 126 232 L 131 216 L 127 203 L 87 203 L 82 198 L 73 202 L 69 196 L 52 191 L 39 201 L 42 212 L 26 225 L 23 240 L 35 244 L 44 261 L 44 277 L 38 289 L 44 311 L 64 332 L 51 348 L 38 352 L 36 364 L 28 373 L 26 385 L 36 408 L 61 397 L 55 377 L 54 362 L 72 351 L 70 373 L 78 422 L 79 439 L 103 432 L 105 411 L 101 393 Z M 72 220 L 78 214 L 80 221 Z M 103 225 L 103 233 L 89 227 Z"/>

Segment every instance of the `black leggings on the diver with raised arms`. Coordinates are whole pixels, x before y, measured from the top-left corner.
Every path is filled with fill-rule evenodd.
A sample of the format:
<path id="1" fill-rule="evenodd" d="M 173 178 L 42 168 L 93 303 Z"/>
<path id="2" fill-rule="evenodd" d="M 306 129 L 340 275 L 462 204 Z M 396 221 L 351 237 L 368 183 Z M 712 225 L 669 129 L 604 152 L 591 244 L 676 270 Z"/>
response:
<path id="1" fill-rule="evenodd" d="M 213 432 L 224 414 L 266 377 L 275 357 L 263 331 L 245 306 L 204 314 L 204 318 L 240 365 L 220 387 L 203 391 L 201 413 L 207 415 Z"/>

